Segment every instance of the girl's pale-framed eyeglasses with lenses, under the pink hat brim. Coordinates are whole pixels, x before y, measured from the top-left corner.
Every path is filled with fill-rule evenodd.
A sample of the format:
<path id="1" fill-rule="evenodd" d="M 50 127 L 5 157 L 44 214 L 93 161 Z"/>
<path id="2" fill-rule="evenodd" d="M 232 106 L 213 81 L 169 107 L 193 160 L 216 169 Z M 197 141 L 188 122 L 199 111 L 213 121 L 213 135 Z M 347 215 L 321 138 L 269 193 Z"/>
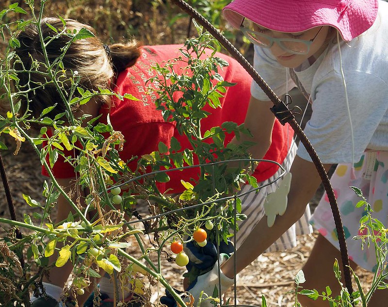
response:
<path id="1" fill-rule="evenodd" d="M 245 28 L 242 24 L 244 20 L 245 18 L 242 19 L 240 30 L 242 31 L 242 33 L 244 33 L 245 37 L 251 43 L 264 48 L 271 48 L 272 45 L 276 43 L 280 46 L 280 48 L 291 54 L 307 54 L 308 51 L 310 51 L 311 44 L 323 28 L 322 26 L 321 29 L 319 29 L 319 31 L 317 32 L 317 34 L 315 34 L 315 36 L 310 40 L 296 38 L 274 38 L 257 31 L 249 30 L 249 27 Z"/>

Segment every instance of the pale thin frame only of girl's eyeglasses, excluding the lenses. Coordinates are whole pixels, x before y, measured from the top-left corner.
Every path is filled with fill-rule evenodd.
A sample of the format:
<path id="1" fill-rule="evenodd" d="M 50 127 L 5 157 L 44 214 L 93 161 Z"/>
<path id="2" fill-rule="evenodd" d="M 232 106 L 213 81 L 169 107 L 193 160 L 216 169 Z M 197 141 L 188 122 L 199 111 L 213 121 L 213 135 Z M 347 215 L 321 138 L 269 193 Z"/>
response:
<path id="1" fill-rule="evenodd" d="M 244 25 L 243 25 L 243 22 L 245 20 L 245 17 L 242 18 L 242 21 L 241 21 L 241 24 L 240 24 L 240 31 L 245 35 L 245 37 L 254 45 L 257 45 L 257 46 L 260 46 L 260 47 L 263 47 L 263 48 L 271 48 L 274 43 L 277 43 L 277 45 L 282 48 L 283 50 L 286 50 L 292 54 L 299 54 L 299 55 L 303 55 L 303 54 L 307 54 L 309 51 L 310 51 L 310 46 L 311 44 L 314 42 L 314 40 L 317 38 L 318 34 L 321 32 L 323 26 L 321 27 L 321 29 L 319 29 L 319 31 L 317 32 L 317 34 L 315 34 L 315 36 L 309 40 L 305 40 L 305 39 L 297 39 L 297 38 L 275 38 L 275 37 L 272 37 L 272 36 L 269 36 L 269 35 L 266 35 L 266 34 L 263 34 L 263 33 L 260 33 L 260 32 L 257 32 L 257 31 L 253 31 L 253 30 L 249 30 L 248 28 L 245 28 Z M 247 35 L 247 33 L 250 32 L 250 33 L 253 33 L 255 35 L 258 35 L 258 36 L 261 36 L 263 38 L 266 38 L 270 41 L 270 45 L 268 46 L 263 46 L 261 44 L 258 44 L 257 42 L 255 42 L 255 40 L 250 36 L 250 35 Z M 296 52 L 296 51 L 293 51 L 289 48 L 285 48 L 281 43 L 282 42 L 291 42 L 291 43 L 304 43 L 306 46 L 307 46 L 307 52 Z M 279 44 L 280 43 L 280 44 Z"/>

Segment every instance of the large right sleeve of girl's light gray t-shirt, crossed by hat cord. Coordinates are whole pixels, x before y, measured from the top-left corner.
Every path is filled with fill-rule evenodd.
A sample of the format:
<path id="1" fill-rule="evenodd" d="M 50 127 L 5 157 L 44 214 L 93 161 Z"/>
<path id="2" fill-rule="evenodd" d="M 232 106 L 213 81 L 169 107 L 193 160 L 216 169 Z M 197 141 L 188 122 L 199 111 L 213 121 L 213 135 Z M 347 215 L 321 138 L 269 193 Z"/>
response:
<path id="1" fill-rule="evenodd" d="M 384 81 L 355 70 L 345 70 L 344 75 L 353 137 L 341 74 L 331 71 L 323 76 L 312 94 L 312 115 L 304 131 L 323 163 L 357 162 L 387 112 Z M 303 145 L 297 155 L 311 161 Z"/>

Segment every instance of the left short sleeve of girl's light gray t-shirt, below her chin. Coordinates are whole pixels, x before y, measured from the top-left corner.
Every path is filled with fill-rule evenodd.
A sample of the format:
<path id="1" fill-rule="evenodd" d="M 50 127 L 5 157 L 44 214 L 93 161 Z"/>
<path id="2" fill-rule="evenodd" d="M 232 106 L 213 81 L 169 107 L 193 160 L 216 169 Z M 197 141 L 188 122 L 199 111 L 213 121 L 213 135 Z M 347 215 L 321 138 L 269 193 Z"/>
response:
<path id="1" fill-rule="evenodd" d="M 288 69 L 276 61 L 270 49 L 259 46 L 254 48 L 254 68 L 277 96 L 280 97 L 295 87 L 295 83 L 288 74 Z M 255 81 L 251 85 L 251 95 L 258 100 L 270 100 Z"/>

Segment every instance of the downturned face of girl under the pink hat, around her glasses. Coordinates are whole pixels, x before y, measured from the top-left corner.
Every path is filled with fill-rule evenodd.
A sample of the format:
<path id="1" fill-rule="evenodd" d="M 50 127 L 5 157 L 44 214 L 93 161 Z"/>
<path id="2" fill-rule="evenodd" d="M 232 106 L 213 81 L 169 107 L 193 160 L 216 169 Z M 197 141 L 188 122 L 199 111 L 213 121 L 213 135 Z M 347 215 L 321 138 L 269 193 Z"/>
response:
<path id="1" fill-rule="evenodd" d="M 267 36 L 270 36 L 275 39 L 287 39 L 291 40 L 291 42 L 287 42 L 287 46 L 292 48 L 292 39 L 295 39 L 295 45 L 300 45 L 300 40 L 303 41 L 311 41 L 312 43 L 309 45 L 309 49 L 307 54 L 293 54 L 292 52 L 289 52 L 285 50 L 284 48 L 280 47 L 277 42 L 275 42 L 271 46 L 271 52 L 275 56 L 276 61 L 285 67 L 289 68 L 295 68 L 301 65 L 303 62 L 305 62 L 308 58 L 314 57 L 317 59 L 323 50 L 327 47 L 327 36 L 329 33 L 329 26 L 323 26 L 323 27 L 316 27 L 309 29 L 304 32 L 294 32 L 294 33 L 286 33 L 286 32 L 277 32 L 272 31 L 269 29 L 266 29 L 264 27 L 255 25 L 254 26 L 255 31 L 258 31 L 260 33 L 263 33 Z M 299 40 L 299 41 L 298 41 Z M 297 48 L 297 47 L 296 47 Z"/>

